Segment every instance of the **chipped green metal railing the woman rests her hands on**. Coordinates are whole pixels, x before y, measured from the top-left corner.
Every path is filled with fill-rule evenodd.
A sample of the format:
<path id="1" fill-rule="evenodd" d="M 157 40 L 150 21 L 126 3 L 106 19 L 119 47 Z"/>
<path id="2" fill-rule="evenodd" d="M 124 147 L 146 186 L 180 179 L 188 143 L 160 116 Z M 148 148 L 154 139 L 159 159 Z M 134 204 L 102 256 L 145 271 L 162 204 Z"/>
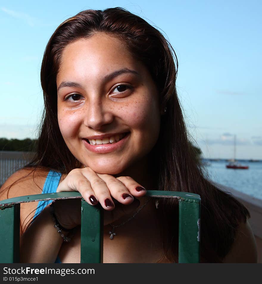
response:
<path id="1" fill-rule="evenodd" d="M 198 194 L 148 190 L 150 197 L 179 200 L 178 262 L 200 260 L 200 204 Z M 20 196 L 0 201 L 0 263 L 19 262 L 20 203 L 40 200 L 82 198 L 79 192 L 58 192 Z M 81 263 L 103 262 L 103 208 L 81 205 Z"/>

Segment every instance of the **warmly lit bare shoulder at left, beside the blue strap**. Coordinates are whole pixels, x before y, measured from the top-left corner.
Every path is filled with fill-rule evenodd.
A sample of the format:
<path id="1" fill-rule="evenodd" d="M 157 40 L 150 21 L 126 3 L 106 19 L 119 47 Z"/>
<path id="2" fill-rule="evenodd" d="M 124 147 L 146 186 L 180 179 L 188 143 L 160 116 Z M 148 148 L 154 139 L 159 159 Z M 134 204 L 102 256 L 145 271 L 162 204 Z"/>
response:
<path id="1" fill-rule="evenodd" d="M 0 188 L 0 200 L 24 195 L 41 194 L 48 174 L 48 169 L 24 168 L 12 174 Z M 24 229 L 32 220 L 38 202 L 21 203 L 21 229 Z"/>

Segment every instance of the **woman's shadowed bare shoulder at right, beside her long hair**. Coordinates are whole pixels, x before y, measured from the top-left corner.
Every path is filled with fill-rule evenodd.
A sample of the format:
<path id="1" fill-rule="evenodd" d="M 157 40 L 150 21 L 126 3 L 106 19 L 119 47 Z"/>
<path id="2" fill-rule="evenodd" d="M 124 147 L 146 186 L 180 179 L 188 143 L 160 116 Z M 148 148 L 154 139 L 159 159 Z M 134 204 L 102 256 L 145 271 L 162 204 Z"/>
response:
<path id="1" fill-rule="evenodd" d="M 249 222 L 241 222 L 224 263 L 257 263 L 257 247 Z"/>

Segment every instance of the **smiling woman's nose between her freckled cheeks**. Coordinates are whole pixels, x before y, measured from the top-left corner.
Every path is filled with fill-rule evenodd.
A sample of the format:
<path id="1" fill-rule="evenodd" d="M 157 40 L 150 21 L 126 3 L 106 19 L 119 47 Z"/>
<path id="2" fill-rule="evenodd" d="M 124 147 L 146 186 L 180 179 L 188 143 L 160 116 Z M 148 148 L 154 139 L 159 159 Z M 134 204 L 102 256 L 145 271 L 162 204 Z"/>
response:
<path id="1" fill-rule="evenodd" d="M 100 129 L 113 121 L 113 112 L 102 101 L 89 102 L 86 107 L 84 124 L 93 129 Z"/>

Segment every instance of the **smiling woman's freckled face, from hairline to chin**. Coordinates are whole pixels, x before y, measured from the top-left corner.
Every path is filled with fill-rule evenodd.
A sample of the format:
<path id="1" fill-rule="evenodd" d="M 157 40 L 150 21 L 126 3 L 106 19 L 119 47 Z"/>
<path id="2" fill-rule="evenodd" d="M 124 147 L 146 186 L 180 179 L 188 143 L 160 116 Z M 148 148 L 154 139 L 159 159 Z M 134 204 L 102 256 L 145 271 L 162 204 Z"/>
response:
<path id="1" fill-rule="evenodd" d="M 100 174 L 135 167 L 155 145 L 158 92 L 149 71 L 105 33 L 63 51 L 57 74 L 60 131 L 71 153 Z"/>

